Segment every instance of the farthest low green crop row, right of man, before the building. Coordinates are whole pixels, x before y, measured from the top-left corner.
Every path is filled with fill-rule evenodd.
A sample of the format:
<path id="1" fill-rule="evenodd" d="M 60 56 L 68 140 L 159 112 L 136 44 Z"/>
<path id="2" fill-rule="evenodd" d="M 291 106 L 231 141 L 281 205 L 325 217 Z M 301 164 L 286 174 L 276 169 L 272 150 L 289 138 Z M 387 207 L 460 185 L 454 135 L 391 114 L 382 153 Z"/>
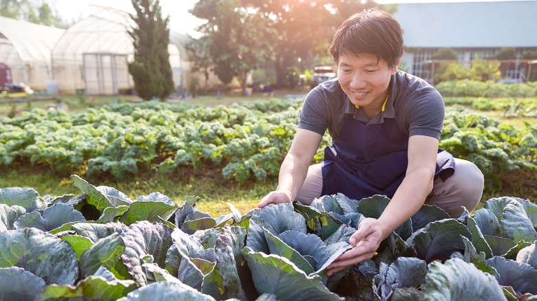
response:
<path id="1" fill-rule="evenodd" d="M 537 96 L 537 82 L 505 84 L 487 80 L 450 80 L 435 85 L 444 97 L 529 97 Z"/>

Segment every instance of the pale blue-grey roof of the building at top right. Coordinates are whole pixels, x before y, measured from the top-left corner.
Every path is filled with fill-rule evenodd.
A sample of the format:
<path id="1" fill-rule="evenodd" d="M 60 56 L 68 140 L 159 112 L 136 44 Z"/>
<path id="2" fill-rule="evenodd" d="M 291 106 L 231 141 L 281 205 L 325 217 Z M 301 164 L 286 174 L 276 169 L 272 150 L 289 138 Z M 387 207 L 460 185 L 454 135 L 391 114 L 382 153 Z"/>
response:
<path id="1" fill-rule="evenodd" d="M 537 1 L 399 3 L 407 47 L 537 47 Z"/>

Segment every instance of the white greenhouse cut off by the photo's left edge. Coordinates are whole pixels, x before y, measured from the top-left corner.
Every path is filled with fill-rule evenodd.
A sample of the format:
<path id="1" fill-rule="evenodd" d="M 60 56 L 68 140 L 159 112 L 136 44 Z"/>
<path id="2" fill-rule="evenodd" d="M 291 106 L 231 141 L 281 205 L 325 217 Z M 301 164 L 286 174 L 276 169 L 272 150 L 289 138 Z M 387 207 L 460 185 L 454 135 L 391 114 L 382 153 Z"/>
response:
<path id="1" fill-rule="evenodd" d="M 0 16 L 0 63 L 10 68 L 12 82 L 44 91 L 51 78 L 50 54 L 65 30 Z"/>

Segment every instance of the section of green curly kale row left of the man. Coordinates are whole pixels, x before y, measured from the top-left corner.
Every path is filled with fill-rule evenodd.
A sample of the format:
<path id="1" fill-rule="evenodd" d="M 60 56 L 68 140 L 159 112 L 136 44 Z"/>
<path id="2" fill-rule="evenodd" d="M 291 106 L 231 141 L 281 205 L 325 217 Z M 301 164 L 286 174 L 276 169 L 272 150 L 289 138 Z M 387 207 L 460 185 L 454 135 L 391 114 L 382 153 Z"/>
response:
<path id="1" fill-rule="evenodd" d="M 120 180 L 165 158 L 162 173 L 209 164 L 229 179 L 263 181 L 277 173 L 299 106 L 273 100 L 229 108 L 147 102 L 79 114 L 34 110 L 2 120 L 0 164 L 24 159 L 57 170 L 87 164 L 88 176 L 107 172 Z"/>

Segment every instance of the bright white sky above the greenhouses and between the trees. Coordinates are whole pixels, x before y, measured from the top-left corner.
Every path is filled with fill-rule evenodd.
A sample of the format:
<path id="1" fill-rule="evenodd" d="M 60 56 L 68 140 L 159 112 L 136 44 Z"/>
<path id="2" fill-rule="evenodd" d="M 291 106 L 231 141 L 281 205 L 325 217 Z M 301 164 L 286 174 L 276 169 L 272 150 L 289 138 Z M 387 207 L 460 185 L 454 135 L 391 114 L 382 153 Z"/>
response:
<path id="1" fill-rule="evenodd" d="M 462 2 L 465 0 L 377 0 L 377 3 L 427 3 L 427 2 Z M 470 0 L 470 1 L 495 1 L 495 0 Z M 505 1 L 505 0 L 504 0 Z M 512 1 L 512 0 L 507 0 Z M 160 7 L 165 15 L 170 16 L 169 28 L 180 34 L 189 34 L 198 38 L 196 27 L 203 21 L 193 16 L 188 11 L 193 8 L 198 0 L 160 0 Z M 83 19 L 96 11 L 94 5 L 108 6 L 125 12 L 134 13 L 131 0 L 49 0 L 52 8 L 57 10 L 62 18 L 72 23 Z"/>

